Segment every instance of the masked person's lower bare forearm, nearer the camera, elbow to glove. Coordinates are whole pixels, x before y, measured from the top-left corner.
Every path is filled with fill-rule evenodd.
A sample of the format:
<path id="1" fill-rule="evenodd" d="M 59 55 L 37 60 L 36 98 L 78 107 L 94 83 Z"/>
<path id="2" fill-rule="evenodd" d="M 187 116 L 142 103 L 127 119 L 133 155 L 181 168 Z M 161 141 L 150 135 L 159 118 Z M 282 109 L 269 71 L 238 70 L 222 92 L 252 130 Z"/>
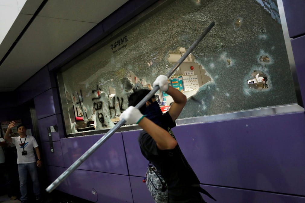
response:
<path id="1" fill-rule="evenodd" d="M 176 147 L 177 141 L 166 130 L 148 118 L 144 117 L 138 124 L 156 141 L 158 149 L 165 150 Z"/>

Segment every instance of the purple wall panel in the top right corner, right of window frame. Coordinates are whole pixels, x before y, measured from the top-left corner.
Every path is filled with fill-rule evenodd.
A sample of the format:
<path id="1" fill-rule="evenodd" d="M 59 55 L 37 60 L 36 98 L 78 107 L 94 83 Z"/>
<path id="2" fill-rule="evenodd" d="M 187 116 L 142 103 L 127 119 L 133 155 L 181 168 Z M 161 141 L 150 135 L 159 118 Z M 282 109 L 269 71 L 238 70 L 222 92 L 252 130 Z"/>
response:
<path id="1" fill-rule="evenodd" d="M 294 38 L 305 33 L 305 1 L 283 0 L 289 36 Z"/>

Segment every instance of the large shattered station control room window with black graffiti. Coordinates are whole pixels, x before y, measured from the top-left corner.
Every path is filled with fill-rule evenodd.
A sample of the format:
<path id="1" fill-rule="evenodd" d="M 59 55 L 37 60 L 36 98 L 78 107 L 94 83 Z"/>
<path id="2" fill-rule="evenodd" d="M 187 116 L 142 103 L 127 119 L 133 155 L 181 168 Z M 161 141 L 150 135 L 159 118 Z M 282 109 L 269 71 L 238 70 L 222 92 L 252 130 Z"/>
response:
<path id="1" fill-rule="evenodd" d="M 112 128 L 133 89 L 151 89 L 212 21 L 169 79 L 188 97 L 179 118 L 297 103 L 275 0 L 179 0 L 62 72 L 67 128 Z M 166 112 L 171 97 L 156 98 Z"/>

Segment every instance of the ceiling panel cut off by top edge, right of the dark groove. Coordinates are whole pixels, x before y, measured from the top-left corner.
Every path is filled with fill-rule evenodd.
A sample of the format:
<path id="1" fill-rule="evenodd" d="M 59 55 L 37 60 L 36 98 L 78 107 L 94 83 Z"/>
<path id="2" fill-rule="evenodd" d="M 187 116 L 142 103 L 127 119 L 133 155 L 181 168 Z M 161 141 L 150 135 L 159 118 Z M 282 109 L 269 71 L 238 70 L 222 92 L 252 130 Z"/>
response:
<path id="1" fill-rule="evenodd" d="M 52 0 L 46 3 L 38 15 L 99 23 L 127 1 L 128 0 Z"/>

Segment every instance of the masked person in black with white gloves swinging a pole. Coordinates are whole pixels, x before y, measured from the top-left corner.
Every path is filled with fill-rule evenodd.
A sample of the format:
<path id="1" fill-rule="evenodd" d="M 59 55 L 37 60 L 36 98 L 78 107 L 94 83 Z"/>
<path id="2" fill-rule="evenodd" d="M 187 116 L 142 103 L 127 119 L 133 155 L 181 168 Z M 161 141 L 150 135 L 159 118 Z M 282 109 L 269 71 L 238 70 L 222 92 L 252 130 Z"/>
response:
<path id="1" fill-rule="evenodd" d="M 159 107 L 154 96 L 138 110 L 138 104 L 150 90 L 135 91 L 128 98 L 129 107 L 120 115 L 125 124 L 138 124 L 143 130 L 138 142 L 143 156 L 152 162 L 164 177 L 170 203 L 204 203 L 200 192 L 213 198 L 199 186 L 199 180 L 185 159 L 176 138 L 171 131 L 186 103 L 186 96 L 178 89 L 169 86 L 167 77 L 160 75 L 153 86 L 169 94 L 174 103 L 165 114 Z M 214 198 L 213 198 L 214 199 Z M 215 199 L 214 199 L 215 200 Z"/>

